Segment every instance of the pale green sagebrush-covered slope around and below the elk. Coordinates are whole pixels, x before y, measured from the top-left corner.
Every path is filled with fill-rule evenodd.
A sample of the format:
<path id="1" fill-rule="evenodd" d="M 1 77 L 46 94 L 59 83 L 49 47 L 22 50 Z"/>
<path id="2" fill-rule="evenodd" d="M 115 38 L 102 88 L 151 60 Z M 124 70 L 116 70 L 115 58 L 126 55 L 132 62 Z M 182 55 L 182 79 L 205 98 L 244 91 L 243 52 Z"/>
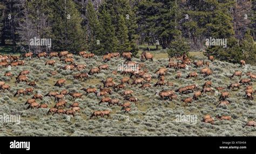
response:
<path id="1" fill-rule="evenodd" d="M 149 69 L 150 74 L 153 76 L 151 85 L 156 83 L 157 76 L 153 73 L 159 67 L 164 67 L 167 65 L 167 54 L 163 52 L 153 52 L 154 61 L 146 61 L 146 67 Z M 196 60 L 205 59 L 200 52 L 191 53 Z M 82 59 L 78 56 L 75 57 L 78 64 L 86 64 L 87 68 L 85 71 L 88 72 L 90 68 L 102 64 L 101 58 L 97 59 Z M 134 59 L 139 61 L 139 59 Z M 77 81 L 73 80 L 72 74 L 78 72 L 70 72 L 59 70 L 58 68 L 64 66 L 63 63 L 57 61 L 55 67 L 44 66 L 45 59 L 38 60 L 26 60 L 26 65 L 21 67 L 12 68 L 11 72 L 18 74 L 18 72 L 29 69 L 31 74 L 29 75 L 29 80 L 38 79 L 38 87 L 35 88 L 35 93 L 40 91 L 46 94 L 50 91 L 58 91 L 66 88 L 69 92 L 82 92 L 80 88 L 83 87 L 99 87 L 100 80 L 106 79 L 107 77 L 113 77 L 111 71 L 117 68 L 118 64 L 122 64 L 123 59 L 112 59 L 107 64 L 110 65 L 109 71 L 102 71 L 97 75 L 93 75 L 90 81 Z M 199 75 L 198 80 L 184 79 L 188 72 L 181 70 L 183 73 L 182 79 L 175 79 L 175 74 L 177 71 L 174 69 L 169 69 L 168 74 L 165 76 L 165 80 L 174 83 L 174 87 L 152 87 L 150 89 L 140 90 L 136 86 L 126 85 L 126 89 L 132 89 L 134 91 L 134 96 L 138 97 L 138 105 L 132 104 L 132 111 L 130 114 L 124 114 L 120 111 L 120 107 L 114 106 L 111 108 L 106 107 L 106 104 L 100 104 L 99 97 L 93 94 L 83 96 L 82 99 L 77 99 L 80 102 L 80 107 L 82 110 L 80 114 L 76 117 L 69 118 L 66 115 L 55 115 L 46 116 L 48 109 L 32 109 L 25 110 L 27 106 L 24 106 L 26 99 L 29 99 L 32 95 L 13 97 L 13 94 L 17 89 L 26 88 L 28 86 L 25 83 L 19 83 L 15 85 L 15 79 L 5 78 L 3 74 L 7 71 L 6 68 L 1 69 L 1 79 L 6 81 L 6 84 L 11 86 L 11 92 L 0 93 L 0 113 L 6 114 L 19 114 L 21 115 L 21 124 L 5 123 L 0 125 L 0 135 L 23 135 L 23 136 L 93 136 L 93 135 L 160 135 L 160 136 L 255 136 L 255 128 L 247 127 L 242 129 L 242 125 L 246 123 L 245 118 L 248 120 L 255 120 L 255 100 L 246 101 L 243 92 L 245 86 L 242 86 L 240 90 L 231 92 L 231 105 L 227 108 L 216 108 L 215 104 L 218 103 L 219 95 L 204 94 L 198 101 L 194 101 L 184 107 L 184 103 L 181 99 L 188 96 L 193 96 L 193 94 L 180 95 L 179 99 L 174 101 L 169 100 L 159 100 L 158 96 L 154 93 L 156 90 L 161 89 L 172 89 L 176 90 L 178 87 L 190 85 L 192 83 L 197 83 L 200 87 L 206 80 L 213 81 L 213 87 L 227 86 L 231 82 L 239 81 L 238 78 L 230 80 L 230 76 L 234 71 L 241 70 L 246 72 L 244 68 L 239 67 L 239 65 L 229 64 L 227 62 L 214 61 L 210 65 L 213 69 L 214 74 L 208 76 L 204 79 Z M 59 74 L 56 76 L 51 76 L 50 71 L 57 70 Z M 190 71 L 199 72 L 200 68 L 195 68 L 193 65 Z M 256 67 L 249 66 L 248 71 L 256 72 Z M 56 80 L 60 78 L 67 79 L 65 87 L 58 88 L 54 87 Z M 123 76 L 114 76 L 114 82 L 120 83 L 120 79 Z M 246 78 L 243 76 L 242 78 Z M 255 81 L 253 82 L 255 88 Z M 82 92 L 83 93 L 83 92 Z M 110 95 L 111 98 L 118 98 L 122 102 L 123 98 L 120 96 L 120 92 L 115 92 Z M 71 97 L 66 96 L 68 104 L 71 104 Z M 49 107 L 54 106 L 55 102 L 53 98 L 44 97 L 42 101 L 37 101 L 41 103 L 48 103 Z M 98 120 L 89 120 L 89 116 L 93 110 L 110 109 L 112 110 L 111 118 L 99 118 Z M 175 122 L 176 115 L 196 115 L 198 117 L 196 124 L 189 124 L 183 122 Z M 200 120 L 205 114 L 210 114 L 215 116 L 217 114 L 221 115 L 231 115 L 233 117 L 232 121 L 217 121 L 215 125 L 202 123 Z M 129 118 L 130 123 L 127 123 L 127 118 Z M 70 119 L 70 120 L 69 120 Z"/>

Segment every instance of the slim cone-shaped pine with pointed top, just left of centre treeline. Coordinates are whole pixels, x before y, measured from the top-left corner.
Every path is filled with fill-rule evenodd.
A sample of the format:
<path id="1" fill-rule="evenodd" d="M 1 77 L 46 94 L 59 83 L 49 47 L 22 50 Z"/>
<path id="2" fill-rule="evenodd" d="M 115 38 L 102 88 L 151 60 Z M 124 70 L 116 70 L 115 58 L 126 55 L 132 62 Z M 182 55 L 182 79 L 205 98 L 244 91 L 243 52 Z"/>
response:
<path id="1" fill-rule="evenodd" d="M 111 22 L 110 13 L 107 12 L 105 5 L 99 10 L 99 22 L 101 26 L 100 36 L 98 36 L 102 48 L 97 54 L 106 54 L 117 51 L 117 37 L 114 26 Z"/>

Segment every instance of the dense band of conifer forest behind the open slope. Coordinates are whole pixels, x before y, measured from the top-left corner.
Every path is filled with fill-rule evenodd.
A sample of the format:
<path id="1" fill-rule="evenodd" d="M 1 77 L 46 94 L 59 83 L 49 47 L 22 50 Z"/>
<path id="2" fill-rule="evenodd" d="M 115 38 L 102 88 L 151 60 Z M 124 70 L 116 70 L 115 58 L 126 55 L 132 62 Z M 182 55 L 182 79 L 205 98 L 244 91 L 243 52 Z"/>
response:
<path id="1" fill-rule="evenodd" d="M 161 47 L 169 55 L 205 51 L 220 60 L 253 62 L 256 0 L 4 0 L 1 45 L 14 51 L 138 52 Z M 51 38 L 51 48 L 31 38 Z M 206 39 L 226 39 L 226 47 Z"/>

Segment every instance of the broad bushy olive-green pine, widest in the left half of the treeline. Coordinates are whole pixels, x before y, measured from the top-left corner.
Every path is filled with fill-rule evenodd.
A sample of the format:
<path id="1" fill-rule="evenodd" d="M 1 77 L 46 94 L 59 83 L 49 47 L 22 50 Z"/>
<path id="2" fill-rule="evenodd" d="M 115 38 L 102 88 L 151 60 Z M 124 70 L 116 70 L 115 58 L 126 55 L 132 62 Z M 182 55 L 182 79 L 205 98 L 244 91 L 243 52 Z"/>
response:
<path id="1" fill-rule="evenodd" d="M 85 34 L 82 18 L 71 0 L 55 1 L 52 4 L 53 50 L 79 52 L 85 49 Z"/>

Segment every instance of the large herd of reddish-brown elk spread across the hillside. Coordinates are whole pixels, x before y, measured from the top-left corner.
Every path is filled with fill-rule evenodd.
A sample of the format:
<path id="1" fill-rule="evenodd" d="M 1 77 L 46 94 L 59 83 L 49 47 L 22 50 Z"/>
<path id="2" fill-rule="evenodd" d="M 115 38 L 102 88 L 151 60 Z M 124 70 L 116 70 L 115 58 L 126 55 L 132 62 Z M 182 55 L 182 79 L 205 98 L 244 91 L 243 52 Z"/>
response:
<path id="1" fill-rule="evenodd" d="M 78 53 L 80 57 L 83 59 L 91 59 L 95 57 L 95 54 L 93 53 L 86 53 L 85 51 L 81 51 Z M 86 69 L 86 64 L 77 64 L 75 56 L 68 52 L 68 51 L 62 51 L 62 52 L 42 52 L 34 55 L 33 53 L 25 53 L 21 56 L 15 56 L 15 55 L 0 55 L 0 66 L 3 67 L 19 67 L 19 65 L 24 66 L 25 61 L 32 58 L 37 58 L 40 60 L 45 60 L 45 66 L 49 65 L 50 67 L 55 66 L 56 63 L 63 64 L 64 66 L 59 67 L 59 69 L 65 69 L 70 71 L 78 71 L 77 74 L 73 75 L 73 78 L 80 81 L 90 81 L 90 76 L 100 73 L 102 70 L 110 71 L 110 65 L 106 64 L 108 61 L 111 61 L 112 58 L 117 59 L 124 59 L 124 65 L 127 67 L 119 67 L 118 70 L 120 71 L 120 76 L 122 76 L 122 79 L 119 81 L 113 81 L 113 78 L 107 78 L 105 80 L 101 80 L 99 84 L 102 86 L 99 86 L 97 88 L 91 88 L 91 87 L 85 87 L 80 90 L 82 90 L 84 93 L 71 93 L 68 92 L 68 89 L 64 89 L 60 92 L 52 91 L 45 95 L 41 93 L 33 94 L 35 89 L 37 88 L 37 80 L 36 81 L 30 81 L 28 78 L 28 74 L 30 74 L 30 70 L 23 70 L 18 73 L 18 75 L 15 77 L 16 81 L 15 84 L 19 82 L 26 82 L 26 85 L 28 87 L 18 89 L 17 92 L 14 94 L 14 97 L 17 96 L 24 96 L 24 95 L 32 95 L 31 99 L 28 99 L 25 102 L 25 105 L 28 104 L 28 107 L 26 109 L 32 109 L 32 108 L 49 108 L 48 104 L 42 104 L 38 103 L 37 100 L 42 100 L 43 97 L 52 97 L 55 101 L 55 106 L 50 107 L 47 115 L 49 114 L 66 114 L 66 115 L 73 115 L 75 116 L 76 113 L 79 113 L 80 107 L 79 102 L 76 102 L 75 99 L 82 99 L 83 97 L 86 97 L 89 93 L 95 94 L 95 97 L 101 97 L 101 100 L 98 102 L 98 106 L 101 106 L 102 104 L 105 104 L 107 107 L 112 106 L 120 106 L 121 110 L 124 111 L 124 113 L 129 113 L 132 108 L 131 104 L 137 104 L 139 99 L 136 96 L 133 96 L 133 90 L 129 89 L 131 87 L 138 87 L 140 90 L 147 90 L 151 89 L 152 86 L 156 87 L 158 89 L 161 89 L 162 86 L 170 87 L 168 90 L 156 90 L 155 95 L 161 99 L 161 100 L 180 100 L 180 102 L 184 103 L 184 106 L 188 106 L 188 103 L 196 102 L 200 99 L 200 97 L 203 96 L 203 94 L 211 94 L 211 95 L 218 95 L 219 96 L 219 102 L 217 103 L 216 107 L 222 107 L 222 106 L 228 106 L 230 102 L 228 102 L 228 98 L 231 97 L 231 90 L 239 90 L 241 87 L 244 88 L 244 97 L 247 100 L 253 100 L 254 99 L 254 93 L 255 90 L 253 89 L 252 82 L 256 79 L 256 74 L 253 74 L 252 72 L 242 72 L 242 71 L 236 71 L 231 76 L 228 76 L 230 80 L 234 80 L 234 78 L 239 78 L 239 81 L 232 82 L 230 85 L 226 85 L 223 87 L 214 87 L 213 81 L 207 80 L 204 81 L 203 85 L 187 85 L 184 87 L 178 87 L 177 89 L 174 89 L 174 83 L 169 82 L 165 80 L 165 76 L 168 75 L 169 69 L 173 68 L 176 70 L 176 80 L 179 80 L 183 78 L 183 74 L 181 73 L 181 69 L 185 69 L 185 72 L 187 72 L 187 75 L 185 75 L 185 79 L 192 79 L 192 80 L 198 80 L 199 76 L 203 76 L 203 78 L 206 78 L 206 76 L 210 76 L 213 73 L 213 70 L 211 69 L 211 65 L 213 65 L 214 57 L 212 55 L 208 56 L 208 60 L 198 60 L 198 61 L 192 61 L 186 54 L 181 55 L 180 57 L 172 57 L 169 58 L 169 62 L 166 67 L 160 67 L 156 71 L 152 72 L 152 74 L 157 75 L 157 81 L 152 84 L 152 74 L 149 72 L 149 69 L 146 67 L 144 61 L 149 60 L 153 61 L 153 54 L 149 52 L 143 52 L 140 55 L 141 62 L 132 61 L 132 53 L 131 52 L 123 52 L 120 53 L 107 53 L 103 55 L 102 62 L 104 64 L 99 65 L 98 67 L 94 66 L 90 69 L 87 73 L 80 73 L 80 71 L 83 71 Z M 57 60 L 57 58 L 59 60 Z M 21 60 L 22 59 L 22 60 Z M 245 61 L 241 60 L 240 65 L 245 66 Z M 197 71 L 190 72 L 191 67 L 194 67 L 197 69 Z M 11 69 L 14 70 L 14 69 Z M 58 71 L 52 71 L 49 72 L 51 75 L 58 74 Z M 8 78 L 12 78 L 12 71 L 6 72 L 4 76 Z M 118 71 L 112 71 L 111 74 L 113 76 L 118 75 Z M 248 76 L 248 78 L 243 78 L 242 75 L 245 74 Z M 235 79 L 236 80 L 236 79 Z M 63 87 L 66 84 L 66 79 L 58 79 L 54 85 L 57 87 Z M 152 85 L 151 85 L 152 84 Z M 246 85 L 246 87 L 245 87 Z M 11 87 L 5 83 L 5 81 L 0 81 L 0 89 L 2 92 L 5 92 L 5 90 L 10 91 Z M 117 93 L 122 90 L 122 97 L 124 100 L 119 100 L 117 98 L 111 97 L 113 93 Z M 187 95 L 189 93 L 193 93 L 193 97 L 185 97 L 184 99 L 181 99 L 181 95 Z M 66 101 L 66 97 L 71 97 L 73 102 L 68 106 L 68 102 Z M 104 117 L 105 115 L 107 117 L 110 117 L 111 111 L 110 110 L 95 110 L 90 115 L 90 118 L 97 118 L 98 116 Z M 217 115 L 215 116 L 218 120 L 232 120 L 232 117 L 229 115 Z M 213 117 L 210 115 L 205 115 L 203 120 L 205 123 L 214 123 Z M 248 126 L 255 126 L 254 121 L 249 121 L 246 125 Z"/>

